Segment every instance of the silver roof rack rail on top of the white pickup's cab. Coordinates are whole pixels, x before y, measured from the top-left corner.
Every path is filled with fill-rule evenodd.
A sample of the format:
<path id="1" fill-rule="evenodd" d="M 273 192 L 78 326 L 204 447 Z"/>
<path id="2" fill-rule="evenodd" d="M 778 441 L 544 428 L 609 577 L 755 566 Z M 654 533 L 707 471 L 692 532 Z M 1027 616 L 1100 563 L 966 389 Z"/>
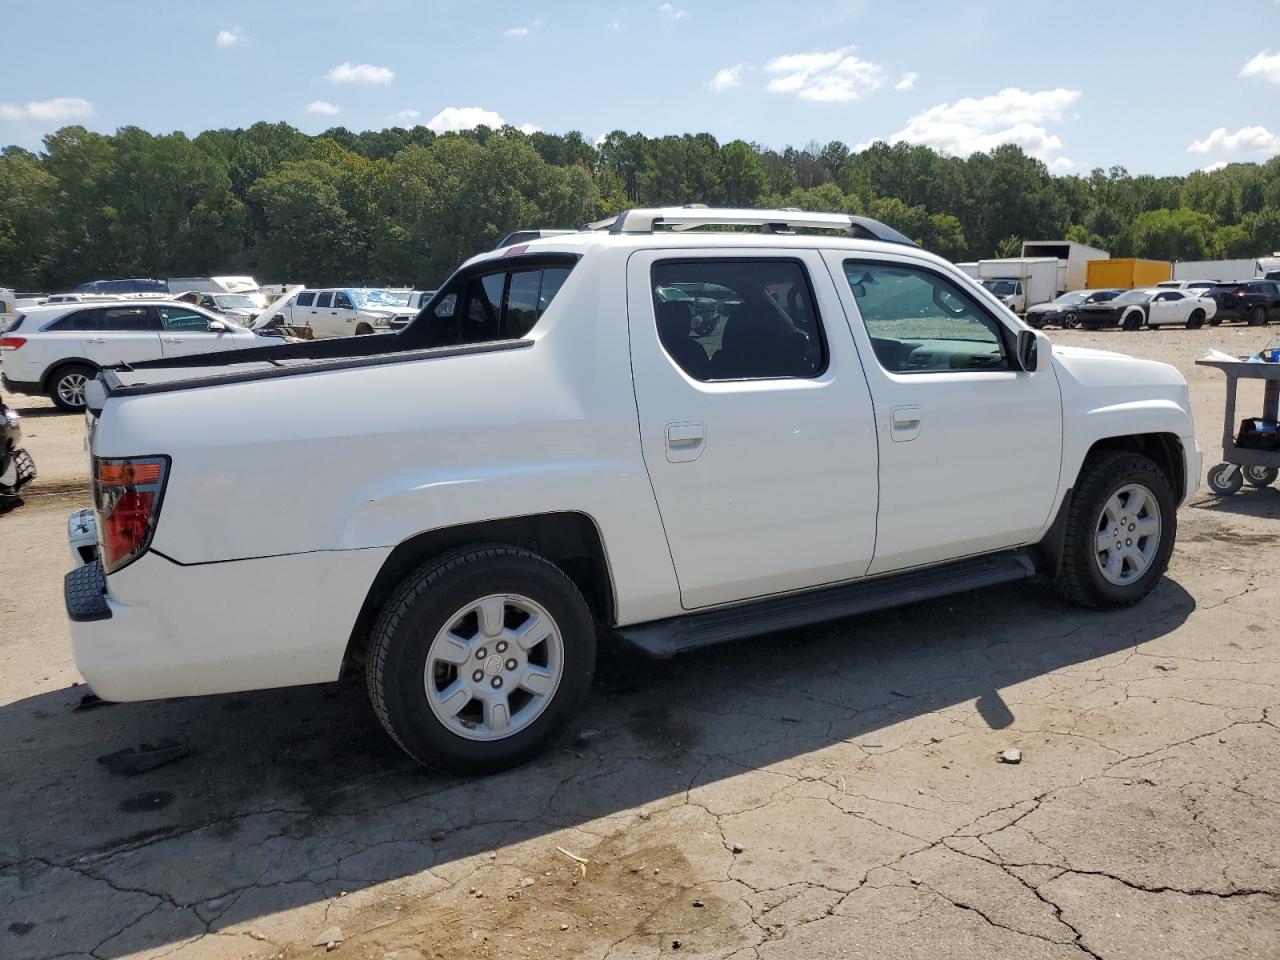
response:
<path id="1" fill-rule="evenodd" d="M 748 210 L 687 206 L 623 210 L 617 216 L 588 224 L 589 230 L 609 233 L 654 233 L 659 229 L 692 230 L 698 227 L 759 227 L 764 233 L 792 233 L 797 229 L 842 230 L 860 239 L 884 243 L 919 244 L 879 220 L 850 214 L 820 214 L 805 210 Z"/>

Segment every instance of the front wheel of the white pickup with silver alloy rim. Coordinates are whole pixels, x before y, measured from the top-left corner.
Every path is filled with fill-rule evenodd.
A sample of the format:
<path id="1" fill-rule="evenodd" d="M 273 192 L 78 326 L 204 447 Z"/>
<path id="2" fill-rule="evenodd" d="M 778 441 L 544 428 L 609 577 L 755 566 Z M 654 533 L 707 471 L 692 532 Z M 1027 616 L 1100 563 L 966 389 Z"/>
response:
<path id="1" fill-rule="evenodd" d="M 1152 591 L 1178 535 L 1169 479 L 1140 453 L 1092 456 L 1071 493 L 1055 586 L 1079 605 L 1114 609 Z"/>

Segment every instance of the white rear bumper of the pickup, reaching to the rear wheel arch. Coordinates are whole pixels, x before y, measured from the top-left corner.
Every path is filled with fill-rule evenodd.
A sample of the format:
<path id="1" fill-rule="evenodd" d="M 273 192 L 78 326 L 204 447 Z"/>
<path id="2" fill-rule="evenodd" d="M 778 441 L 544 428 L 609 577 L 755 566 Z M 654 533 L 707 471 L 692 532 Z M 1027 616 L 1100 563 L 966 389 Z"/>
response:
<path id="1" fill-rule="evenodd" d="M 264 690 L 337 680 L 387 549 L 182 566 L 147 553 L 86 594 L 68 577 L 76 667 L 104 700 Z M 70 590 L 76 579 L 77 590 Z"/>

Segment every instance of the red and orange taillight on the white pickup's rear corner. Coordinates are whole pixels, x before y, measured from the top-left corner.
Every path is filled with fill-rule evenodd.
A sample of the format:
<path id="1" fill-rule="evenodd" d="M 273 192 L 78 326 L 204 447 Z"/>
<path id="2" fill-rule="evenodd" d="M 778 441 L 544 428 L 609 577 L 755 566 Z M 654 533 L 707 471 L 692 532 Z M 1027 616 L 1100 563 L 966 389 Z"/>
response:
<path id="1" fill-rule="evenodd" d="M 168 467 L 168 457 L 95 461 L 93 500 L 108 573 L 141 557 L 151 544 Z"/>

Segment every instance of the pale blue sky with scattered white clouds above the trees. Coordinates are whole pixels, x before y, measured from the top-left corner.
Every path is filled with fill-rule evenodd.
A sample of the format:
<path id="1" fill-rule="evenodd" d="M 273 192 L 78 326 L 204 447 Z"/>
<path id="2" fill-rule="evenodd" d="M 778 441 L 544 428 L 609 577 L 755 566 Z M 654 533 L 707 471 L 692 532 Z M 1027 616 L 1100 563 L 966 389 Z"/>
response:
<path id="1" fill-rule="evenodd" d="M 781 148 L 1018 143 L 1053 173 L 1280 154 L 1280 0 L 0 0 L 0 143 L 259 120 Z"/>

